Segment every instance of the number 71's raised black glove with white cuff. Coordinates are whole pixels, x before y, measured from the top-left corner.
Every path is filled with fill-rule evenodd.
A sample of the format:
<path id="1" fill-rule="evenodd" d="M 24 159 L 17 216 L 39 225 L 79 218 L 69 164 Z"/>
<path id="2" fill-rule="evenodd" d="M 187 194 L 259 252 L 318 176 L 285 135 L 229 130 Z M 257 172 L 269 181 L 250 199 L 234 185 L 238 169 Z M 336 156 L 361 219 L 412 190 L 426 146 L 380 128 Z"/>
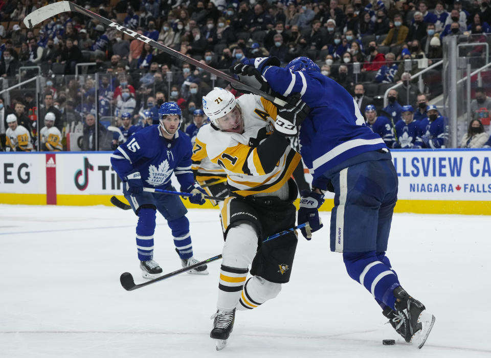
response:
<path id="1" fill-rule="evenodd" d="M 278 108 L 275 121 L 275 130 L 285 137 L 295 136 L 298 127 L 310 112 L 310 107 L 300 99 L 300 94 L 295 94 L 287 99 L 284 107 Z"/>

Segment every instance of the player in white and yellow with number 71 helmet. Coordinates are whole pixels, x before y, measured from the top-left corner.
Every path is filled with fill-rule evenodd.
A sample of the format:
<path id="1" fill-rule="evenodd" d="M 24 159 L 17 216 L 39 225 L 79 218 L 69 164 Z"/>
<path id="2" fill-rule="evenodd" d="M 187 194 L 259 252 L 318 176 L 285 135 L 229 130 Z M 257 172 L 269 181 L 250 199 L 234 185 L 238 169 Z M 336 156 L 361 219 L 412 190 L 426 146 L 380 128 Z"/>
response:
<path id="1" fill-rule="evenodd" d="M 295 135 L 297 127 L 282 125 L 283 117 L 301 123 L 308 107 L 298 98 L 292 103 L 277 109 L 259 96 L 235 99 L 218 87 L 203 97 L 211 125 L 198 131 L 193 152 L 225 169 L 230 190 L 220 215 L 225 244 L 210 333 L 217 350 L 232 332 L 235 310 L 253 309 L 276 297 L 292 272 L 295 233 L 262 243 L 295 226 L 297 187 L 291 175 L 300 155 L 286 137 Z M 246 281 L 249 265 L 252 277 Z"/>

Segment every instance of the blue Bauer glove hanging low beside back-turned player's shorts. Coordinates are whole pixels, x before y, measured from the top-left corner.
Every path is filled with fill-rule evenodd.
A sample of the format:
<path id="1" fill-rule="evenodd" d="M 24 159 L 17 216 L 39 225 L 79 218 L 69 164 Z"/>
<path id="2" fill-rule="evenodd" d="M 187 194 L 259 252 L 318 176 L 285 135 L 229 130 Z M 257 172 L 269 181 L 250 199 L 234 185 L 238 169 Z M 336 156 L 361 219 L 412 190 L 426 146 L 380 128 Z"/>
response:
<path id="1" fill-rule="evenodd" d="M 324 203 L 324 195 L 314 191 L 302 190 L 300 198 L 300 209 L 298 209 L 297 222 L 299 224 L 308 222 L 309 227 L 300 229 L 303 237 L 307 240 L 312 238 L 312 233 L 316 232 L 324 225 L 319 218 L 319 208 Z"/>

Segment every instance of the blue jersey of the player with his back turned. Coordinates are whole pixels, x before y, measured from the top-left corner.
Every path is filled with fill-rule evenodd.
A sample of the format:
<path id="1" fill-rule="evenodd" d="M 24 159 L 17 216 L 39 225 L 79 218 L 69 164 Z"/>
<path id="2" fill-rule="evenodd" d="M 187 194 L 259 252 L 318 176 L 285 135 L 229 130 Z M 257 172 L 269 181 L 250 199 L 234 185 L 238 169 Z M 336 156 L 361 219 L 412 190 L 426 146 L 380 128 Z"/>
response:
<path id="1" fill-rule="evenodd" d="M 265 66 L 262 75 L 274 91 L 285 97 L 300 93 L 311 108 L 299 139 L 300 154 L 314 178 L 356 155 L 386 148 L 366 126 L 353 97 L 336 81 L 318 72 L 276 66 Z"/>

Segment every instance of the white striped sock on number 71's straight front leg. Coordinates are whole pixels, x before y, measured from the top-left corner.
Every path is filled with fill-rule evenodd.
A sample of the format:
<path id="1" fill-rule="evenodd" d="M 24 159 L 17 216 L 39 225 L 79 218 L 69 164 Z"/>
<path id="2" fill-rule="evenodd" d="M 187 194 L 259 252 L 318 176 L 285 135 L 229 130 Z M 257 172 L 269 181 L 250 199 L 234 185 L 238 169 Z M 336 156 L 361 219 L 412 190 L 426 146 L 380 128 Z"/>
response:
<path id="1" fill-rule="evenodd" d="M 222 251 L 218 309 L 231 311 L 237 307 L 256 250 L 257 234 L 249 224 L 241 223 L 229 229 Z"/>

